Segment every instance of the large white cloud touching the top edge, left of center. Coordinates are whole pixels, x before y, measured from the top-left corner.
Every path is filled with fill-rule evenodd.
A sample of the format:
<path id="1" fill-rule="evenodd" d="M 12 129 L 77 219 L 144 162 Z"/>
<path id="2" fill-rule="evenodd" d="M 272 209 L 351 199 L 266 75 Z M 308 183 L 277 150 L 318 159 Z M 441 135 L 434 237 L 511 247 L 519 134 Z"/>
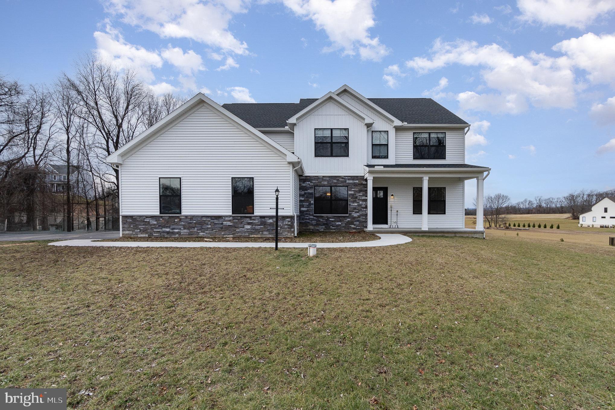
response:
<path id="1" fill-rule="evenodd" d="M 248 45 L 229 31 L 233 14 L 245 12 L 247 2 L 226 0 L 103 0 L 105 10 L 124 23 L 161 37 L 188 38 L 224 52 L 248 54 Z"/>

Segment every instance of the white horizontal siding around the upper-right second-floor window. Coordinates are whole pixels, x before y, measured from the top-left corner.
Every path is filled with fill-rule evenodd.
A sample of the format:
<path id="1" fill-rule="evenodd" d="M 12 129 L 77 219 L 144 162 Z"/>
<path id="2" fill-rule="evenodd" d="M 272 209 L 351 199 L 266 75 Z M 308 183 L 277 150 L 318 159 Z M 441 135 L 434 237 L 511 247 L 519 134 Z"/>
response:
<path id="1" fill-rule="evenodd" d="M 463 128 L 397 128 L 395 133 L 395 164 L 464 164 Z M 413 133 L 415 132 L 446 132 L 446 159 L 413 160 Z"/>

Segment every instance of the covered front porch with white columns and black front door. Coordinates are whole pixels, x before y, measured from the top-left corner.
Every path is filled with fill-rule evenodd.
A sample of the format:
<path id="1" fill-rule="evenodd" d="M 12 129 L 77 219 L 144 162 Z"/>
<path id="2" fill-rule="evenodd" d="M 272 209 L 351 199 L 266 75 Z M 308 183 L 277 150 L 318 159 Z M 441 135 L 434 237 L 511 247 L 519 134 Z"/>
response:
<path id="1" fill-rule="evenodd" d="M 484 237 L 483 181 L 489 171 L 469 164 L 367 165 L 366 231 Z M 475 229 L 465 227 L 467 179 L 477 181 Z"/>

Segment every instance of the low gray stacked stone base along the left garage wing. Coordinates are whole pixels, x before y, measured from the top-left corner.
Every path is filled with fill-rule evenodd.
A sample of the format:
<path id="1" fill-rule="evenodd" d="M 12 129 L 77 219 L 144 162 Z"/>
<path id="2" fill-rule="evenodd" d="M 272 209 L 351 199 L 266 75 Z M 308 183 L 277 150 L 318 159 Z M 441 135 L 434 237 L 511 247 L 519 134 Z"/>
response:
<path id="1" fill-rule="evenodd" d="M 279 217 L 280 237 L 295 235 L 295 217 Z M 276 216 L 122 216 L 122 236 L 127 237 L 274 237 Z"/>

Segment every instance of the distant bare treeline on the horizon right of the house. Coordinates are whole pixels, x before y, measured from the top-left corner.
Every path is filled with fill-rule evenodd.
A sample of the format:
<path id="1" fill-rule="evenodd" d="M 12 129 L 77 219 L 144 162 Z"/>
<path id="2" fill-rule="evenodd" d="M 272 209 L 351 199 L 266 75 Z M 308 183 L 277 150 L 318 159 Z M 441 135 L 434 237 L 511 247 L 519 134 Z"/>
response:
<path id="1" fill-rule="evenodd" d="M 524 199 L 515 203 L 506 203 L 503 214 L 518 215 L 527 213 L 569 213 L 571 218 L 579 218 L 579 215 L 592 209 L 592 205 L 604 197 L 615 196 L 615 189 L 608 191 L 573 191 L 563 197 L 542 197 Z M 487 201 L 485 201 L 487 208 Z M 466 215 L 476 215 L 476 208 L 467 208 Z"/>

